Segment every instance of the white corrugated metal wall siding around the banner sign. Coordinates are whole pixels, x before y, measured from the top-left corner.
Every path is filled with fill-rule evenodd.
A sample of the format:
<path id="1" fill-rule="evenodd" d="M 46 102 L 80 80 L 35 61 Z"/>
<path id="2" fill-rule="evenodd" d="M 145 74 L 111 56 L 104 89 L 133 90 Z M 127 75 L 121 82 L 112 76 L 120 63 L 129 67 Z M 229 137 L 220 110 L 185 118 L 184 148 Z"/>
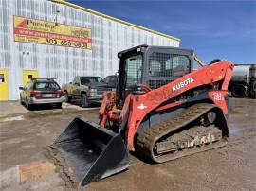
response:
<path id="1" fill-rule="evenodd" d="M 13 15 L 92 29 L 92 50 L 13 41 Z M 9 99 L 19 98 L 23 70 L 38 70 L 40 78 L 62 84 L 77 75 L 114 74 L 117 53 L 138 44 L 179 46 L 179 42 L 79 9 L 46 0 L 0 0 L 0 68 L 9 69 Z"/>

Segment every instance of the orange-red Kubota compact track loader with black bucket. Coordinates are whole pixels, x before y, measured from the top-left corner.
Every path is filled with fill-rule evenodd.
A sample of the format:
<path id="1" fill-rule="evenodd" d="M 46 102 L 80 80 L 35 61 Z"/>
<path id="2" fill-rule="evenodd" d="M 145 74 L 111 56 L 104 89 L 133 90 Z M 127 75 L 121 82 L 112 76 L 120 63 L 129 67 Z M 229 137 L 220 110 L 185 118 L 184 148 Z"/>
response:
<path id="1" fill-rule="evenodd" d="M 153 163 L 226 144 L 233 64 L 192 70 L 192 50 L 140 45 L 119 52 L 116 92 L 105 92 L 99 123 L 75 118 L 49 147 L 80 185 L 127 169 L 128 150 Z"/>

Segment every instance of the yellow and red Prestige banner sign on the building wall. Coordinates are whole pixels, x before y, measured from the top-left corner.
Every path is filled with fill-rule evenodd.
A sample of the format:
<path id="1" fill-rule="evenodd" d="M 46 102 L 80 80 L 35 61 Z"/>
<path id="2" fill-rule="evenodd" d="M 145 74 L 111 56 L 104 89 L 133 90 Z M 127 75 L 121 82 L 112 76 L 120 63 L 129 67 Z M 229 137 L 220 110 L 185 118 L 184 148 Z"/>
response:
<path id="1" fill-rule="evenodd" d="M 91 29 L 13 16 L 15 42 L 91 49 Z"/>

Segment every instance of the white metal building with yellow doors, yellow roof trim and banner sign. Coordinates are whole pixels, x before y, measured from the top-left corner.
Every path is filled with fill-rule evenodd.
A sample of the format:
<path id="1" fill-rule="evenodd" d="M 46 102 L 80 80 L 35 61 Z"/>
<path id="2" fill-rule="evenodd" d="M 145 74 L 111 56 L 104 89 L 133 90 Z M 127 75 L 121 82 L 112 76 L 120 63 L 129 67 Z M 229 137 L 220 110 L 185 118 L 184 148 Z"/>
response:
<path id="1" fill-rule="evenodd" d="M 115 74 L 117 53 L 180 40 L 63 0 L 0 0 L 0 100 L 19 98 L 29 78 Z"/>

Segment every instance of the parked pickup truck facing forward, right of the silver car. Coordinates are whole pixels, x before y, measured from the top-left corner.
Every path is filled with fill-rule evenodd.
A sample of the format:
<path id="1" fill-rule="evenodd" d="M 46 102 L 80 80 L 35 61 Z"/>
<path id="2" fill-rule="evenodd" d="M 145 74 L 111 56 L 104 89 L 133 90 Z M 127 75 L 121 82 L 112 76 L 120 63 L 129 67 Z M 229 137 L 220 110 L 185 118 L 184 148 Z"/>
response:
<path id="1" fill-rule="evenodd" d="M 102 101 L 103 92 L 112 91 L 111 86 L 103 81 L 101 77 L 77 76 L 72 82 L 63 84 L 64 101 L 79 99 L 81 106 L 88 107 L 90 103 Z"/>

